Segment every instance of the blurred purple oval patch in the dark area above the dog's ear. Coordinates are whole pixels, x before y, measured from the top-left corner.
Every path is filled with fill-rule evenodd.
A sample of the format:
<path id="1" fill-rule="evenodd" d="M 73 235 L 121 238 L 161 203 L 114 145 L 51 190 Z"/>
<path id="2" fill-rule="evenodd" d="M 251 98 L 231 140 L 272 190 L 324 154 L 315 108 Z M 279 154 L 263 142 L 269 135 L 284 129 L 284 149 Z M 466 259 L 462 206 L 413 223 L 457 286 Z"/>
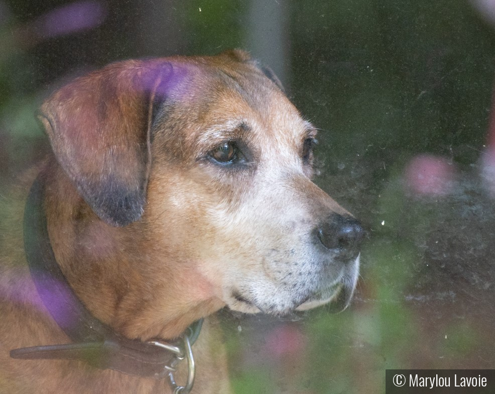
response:
<path id="1" fill-rule="evenodd" d="M 34 25 L 40 36 L 56 37 L 95 28 L 103 23 L 106 15 L 106 8 L 99 2 L 82 1 L 50 11 Z"/>

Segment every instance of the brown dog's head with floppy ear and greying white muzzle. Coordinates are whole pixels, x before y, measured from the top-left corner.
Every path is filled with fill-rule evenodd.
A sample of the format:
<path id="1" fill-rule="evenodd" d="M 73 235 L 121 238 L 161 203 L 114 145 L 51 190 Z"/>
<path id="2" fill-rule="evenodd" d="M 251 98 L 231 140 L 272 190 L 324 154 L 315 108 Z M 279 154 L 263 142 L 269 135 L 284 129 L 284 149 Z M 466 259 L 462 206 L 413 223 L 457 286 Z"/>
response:
<path id="1" fill-rule="evenodd" d="M 223 305 L 286 314 L 348 304 L 362 229 L 311 181 L 315 128 L 244 52 L 112 64 L 54 93 L 40 119 L 97 215 L 71 222 L 91 241 L 75 242 L 79 257 L 103 233 L 139 260 L 113 275 L 146 282 L 147 295 L 128 279 L 141 300 L 121 291 L 115 309 L 148 324 L 172 305 L 194 311 L 190 323 Z"/>

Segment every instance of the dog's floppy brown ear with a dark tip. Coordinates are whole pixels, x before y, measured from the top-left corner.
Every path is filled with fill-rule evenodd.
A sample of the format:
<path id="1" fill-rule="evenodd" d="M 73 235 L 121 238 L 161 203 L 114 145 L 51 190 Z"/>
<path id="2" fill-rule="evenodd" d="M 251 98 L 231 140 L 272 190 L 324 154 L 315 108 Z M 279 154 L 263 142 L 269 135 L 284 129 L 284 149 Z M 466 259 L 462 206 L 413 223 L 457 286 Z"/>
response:
<path id="1" fill-rule="evenodd" d="M 115 63 L 64 86 L 41 107 L 58 162 L 110 225 L 143 213 L 153 101 L 171 72 L 169 63 Z"/>

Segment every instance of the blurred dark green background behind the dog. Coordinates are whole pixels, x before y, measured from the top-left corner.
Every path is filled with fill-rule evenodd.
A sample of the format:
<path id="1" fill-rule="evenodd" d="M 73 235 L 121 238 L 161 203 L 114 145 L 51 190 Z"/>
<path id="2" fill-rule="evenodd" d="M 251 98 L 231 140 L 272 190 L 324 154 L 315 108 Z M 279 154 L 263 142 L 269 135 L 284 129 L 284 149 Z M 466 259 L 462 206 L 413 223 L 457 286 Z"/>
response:
<path id="1" fill-rule="evenodd" d="M 320 129 L 316 183 L 368 232 L 353 304 L 221 313 L 235 393 L 381 393 L 387 368 L 493 368 L 492 0 L 0 0 L 0 192 L 34 113 L 108 62 L 243 48 Z"/>

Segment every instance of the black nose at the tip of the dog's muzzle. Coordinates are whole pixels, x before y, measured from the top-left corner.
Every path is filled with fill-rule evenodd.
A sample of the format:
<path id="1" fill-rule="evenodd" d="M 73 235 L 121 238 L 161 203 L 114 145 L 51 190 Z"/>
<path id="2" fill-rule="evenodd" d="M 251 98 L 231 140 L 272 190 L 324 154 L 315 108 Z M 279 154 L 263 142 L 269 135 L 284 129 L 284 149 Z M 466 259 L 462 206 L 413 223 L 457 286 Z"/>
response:
<path id="1" fill-rule="evenodd" d="M 315 229 L 318 241 L 342 258 L 357 257 L 364 230 L 351 216 L 333 214 Z"/>

